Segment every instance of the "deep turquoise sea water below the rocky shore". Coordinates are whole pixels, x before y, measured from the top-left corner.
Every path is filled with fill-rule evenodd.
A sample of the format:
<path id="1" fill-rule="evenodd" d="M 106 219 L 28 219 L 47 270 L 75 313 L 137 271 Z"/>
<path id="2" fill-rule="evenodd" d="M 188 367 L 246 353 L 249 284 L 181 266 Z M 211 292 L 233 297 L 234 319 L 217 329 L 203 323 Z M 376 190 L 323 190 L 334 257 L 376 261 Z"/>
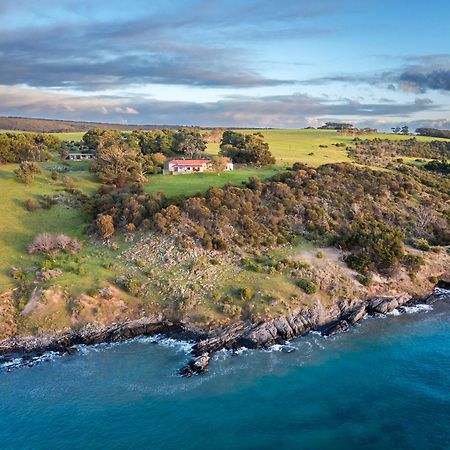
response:
<path id="1" fill-rule="evenodd" d="M 186 344 L 151 339 L 3 373 L 0 447 L 450 448 L 450 302 L 293 345 L 193 379 Z"/>

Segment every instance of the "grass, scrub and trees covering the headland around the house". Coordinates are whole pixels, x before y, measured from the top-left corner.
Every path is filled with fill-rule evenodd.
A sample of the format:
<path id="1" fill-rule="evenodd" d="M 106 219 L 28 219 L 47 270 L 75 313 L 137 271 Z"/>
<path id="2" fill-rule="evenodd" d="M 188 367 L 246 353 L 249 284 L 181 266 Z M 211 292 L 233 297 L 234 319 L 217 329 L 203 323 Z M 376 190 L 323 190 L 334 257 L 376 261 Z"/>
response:
<path id="1" fill-rule="evenodd" d="M 62 150 L 13 152 L 16 162 L 0 167 L 0 285 L 17 288 L 18 312 L 36 287 L 47 293 L 18 316 L 21 330 L 154 312 L 208 326 L 261 320 L 316 297 L 355 298 L 375 274 L 413 277 L 420 252 L 450 243 L 448 179 L 392 164 L 400 150 L 380 171 L 352 164 L 353 136 L 332 130 L 213 131 L 92 130 Z M 408 136 L 392 139 L 393 148 L 411 146 L 400 144 Z M 64 159 L 78 150 L 94 153 L 93 163 Z M 167 157 L 219 153 L 244 167 L 159 173 Z M 31 183 L 14 174 L 31 167 Z M 329 273 L 330 246 L 357 276 Z"/>

